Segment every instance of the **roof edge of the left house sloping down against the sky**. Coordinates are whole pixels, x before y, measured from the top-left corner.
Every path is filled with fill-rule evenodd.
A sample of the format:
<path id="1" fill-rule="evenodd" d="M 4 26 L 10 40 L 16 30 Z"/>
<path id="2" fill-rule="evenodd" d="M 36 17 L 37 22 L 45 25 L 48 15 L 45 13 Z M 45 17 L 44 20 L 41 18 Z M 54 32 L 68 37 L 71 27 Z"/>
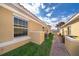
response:
<path id="1" fill-rule="evenodd" d="M 10 7 L 9 5 L 11 6 L 15 6 L 17 7 L 18 9 L 20 9 L 21 11 L 25 12 L 25 15 L 27 14 L 29 17 L 33 18 L 33 21 L 39 23 L 40 25 L 42 26 L 46 26 L 47 27 L 47 24 L 45 24 L 45 22 L 41 21 L 39 18 L 37 18 L 34 14 L 32 14 L 30 11 L 28 11 L 26 8 L 24 8 L 22 5 L 20 5 L 19 3 L 2 3 L 0 4 L 2 7 Z M 10 7 L 12 8 L 12 7 Z M 10 9 L 9 8 L 9 9 Z M 12 8 L 13 9 L 13 8 Z M 21 12 L 22 13 L 22 12 Z M 39 19 L 39 20 L 38 20 Z M 32 20 L 32 19 L 30 19 Z"/>

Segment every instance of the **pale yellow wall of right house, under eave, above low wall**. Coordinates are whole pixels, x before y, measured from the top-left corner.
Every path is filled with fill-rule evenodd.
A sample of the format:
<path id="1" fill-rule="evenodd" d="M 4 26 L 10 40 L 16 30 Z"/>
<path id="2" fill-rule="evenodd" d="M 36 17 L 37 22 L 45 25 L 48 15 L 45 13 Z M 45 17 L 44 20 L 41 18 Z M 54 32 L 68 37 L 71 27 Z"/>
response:
<path id="1" fill-rule="evenodd" d="M 71 35 L 72 36 L 79 36 L 79 20 L 74 20 L 73 22 L 71 22 L 70 24 L 66 25 L 65 27 L 63 27 L 62 29 L 64 29 L 64 34 L 67 35 L 68 34 L 68 26 L 71 26 Z M 62 31 L 61 29 L 61 31 Z"/>

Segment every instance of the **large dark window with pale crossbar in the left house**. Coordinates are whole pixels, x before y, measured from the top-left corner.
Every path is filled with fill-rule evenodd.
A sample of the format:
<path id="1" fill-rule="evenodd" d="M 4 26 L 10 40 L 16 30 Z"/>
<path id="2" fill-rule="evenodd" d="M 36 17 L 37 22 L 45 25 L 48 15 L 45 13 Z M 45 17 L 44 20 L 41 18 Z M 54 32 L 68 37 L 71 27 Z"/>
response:
<path id="1" fill-rule="evenodd" d="M 14 17 L 14 37 L 27 35 L 28 22 L 24 19 Z"/>

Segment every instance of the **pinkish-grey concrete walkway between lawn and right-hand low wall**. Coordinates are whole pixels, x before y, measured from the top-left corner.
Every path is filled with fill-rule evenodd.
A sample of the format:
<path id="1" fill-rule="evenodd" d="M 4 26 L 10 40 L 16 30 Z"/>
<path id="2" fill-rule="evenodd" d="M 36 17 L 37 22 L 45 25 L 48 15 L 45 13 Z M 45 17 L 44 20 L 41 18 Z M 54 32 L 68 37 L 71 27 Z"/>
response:
<path id="1" fill-rule="evenodd" d="M 54 36 L 50 56 L 69 56 L 63 43 L 61 43 L 61 37 Z"/>

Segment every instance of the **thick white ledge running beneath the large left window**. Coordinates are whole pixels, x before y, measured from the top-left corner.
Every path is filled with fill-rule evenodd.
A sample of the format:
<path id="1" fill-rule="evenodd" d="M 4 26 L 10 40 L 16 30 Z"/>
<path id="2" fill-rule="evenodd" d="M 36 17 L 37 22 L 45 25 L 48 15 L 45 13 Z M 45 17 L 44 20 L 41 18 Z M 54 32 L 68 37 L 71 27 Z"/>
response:
<path id="1" fill-rule="evenodd" d="M 31 38 L 30 38 L 29 36 L 16 37 L 16 38 L 14 38 L 13 40 L 0 43 L 0 48 L 6 47 L 6 46 L 9 46 L 9 45 L 12 45 L 12 44 L 21 42 L 21 41 L 25 41 L 25 40 L 28 40 L 28 39 L 31 39 Z"/>

